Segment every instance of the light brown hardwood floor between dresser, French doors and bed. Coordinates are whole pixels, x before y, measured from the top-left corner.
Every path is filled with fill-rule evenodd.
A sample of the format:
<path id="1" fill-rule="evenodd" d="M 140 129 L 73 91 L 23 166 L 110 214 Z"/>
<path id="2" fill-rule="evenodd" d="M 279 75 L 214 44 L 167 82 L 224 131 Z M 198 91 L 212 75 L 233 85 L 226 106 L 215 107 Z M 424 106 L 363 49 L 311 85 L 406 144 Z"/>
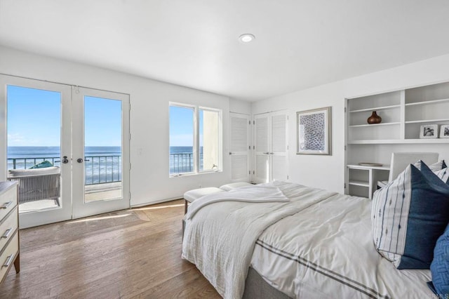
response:
<path id="1" fill-rule="evenodd" d="M 221 298 L 181 259 L 182 200 L 20 231 L 0 298 Z"/>

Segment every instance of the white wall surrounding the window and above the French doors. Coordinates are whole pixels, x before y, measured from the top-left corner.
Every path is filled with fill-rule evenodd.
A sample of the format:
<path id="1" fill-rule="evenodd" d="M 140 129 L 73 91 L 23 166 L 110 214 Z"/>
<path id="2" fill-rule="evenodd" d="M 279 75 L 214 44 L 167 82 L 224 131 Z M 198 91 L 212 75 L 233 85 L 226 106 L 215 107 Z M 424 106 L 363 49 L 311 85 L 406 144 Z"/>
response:
<path id="1" fill-rule="evenodd" d="M 0 73 L 130 95 L 132 206 L 180 198 L 199 185 L 220 186 L 229 182 L 229 156 L 225 154 L 222 172 L 168 177 L 168 102 L 222 109 L 223 152 L 229 152 L 229 98 L 225 96 L 5 47 L 0 47 Z M 243 107 L 241 113 L 246 112 L 248 104 L 232 102 L 234 109 Z"/>

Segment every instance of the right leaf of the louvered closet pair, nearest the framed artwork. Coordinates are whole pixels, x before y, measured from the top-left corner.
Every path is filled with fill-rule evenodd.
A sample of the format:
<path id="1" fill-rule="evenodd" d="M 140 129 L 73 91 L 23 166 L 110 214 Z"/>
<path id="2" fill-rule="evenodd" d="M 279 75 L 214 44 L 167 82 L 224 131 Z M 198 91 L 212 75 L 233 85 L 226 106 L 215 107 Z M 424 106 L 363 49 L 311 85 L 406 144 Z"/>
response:
<path id="1" fill-rule="evenodd" d="M 272 150 L 270 151 L 272 160 L 271 180 L 288 180 L 287 114 L 286 112 L 272 112 L 270 119 L 272 135 Z"/>

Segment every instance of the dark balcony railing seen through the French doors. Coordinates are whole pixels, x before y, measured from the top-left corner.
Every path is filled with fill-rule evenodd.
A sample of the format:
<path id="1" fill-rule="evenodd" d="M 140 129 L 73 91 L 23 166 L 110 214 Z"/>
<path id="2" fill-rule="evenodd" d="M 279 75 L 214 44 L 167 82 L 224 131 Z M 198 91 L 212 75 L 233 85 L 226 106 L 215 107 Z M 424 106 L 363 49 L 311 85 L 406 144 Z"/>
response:
<path id="1" fill-rule="evenodd" d="M 8 158 L 8 169 L 27 169 L 42 161 L 61 165 L 60 157 Z M 84 163 L 85 185 L 121 182 L 121 156 L 86 156 Z"/>

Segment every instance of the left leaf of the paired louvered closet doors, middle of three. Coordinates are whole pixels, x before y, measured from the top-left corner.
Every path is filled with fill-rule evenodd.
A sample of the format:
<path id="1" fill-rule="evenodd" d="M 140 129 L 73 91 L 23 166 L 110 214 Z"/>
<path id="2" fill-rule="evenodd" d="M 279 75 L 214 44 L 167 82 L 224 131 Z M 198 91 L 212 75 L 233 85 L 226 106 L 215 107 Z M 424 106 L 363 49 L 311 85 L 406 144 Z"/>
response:
<path id="1" fill-rule="evenodd" d="M 270 180 L 270 114 L 257 114 L 254 117 L 255 164 L 253 181 L 269 182 Z"/>

